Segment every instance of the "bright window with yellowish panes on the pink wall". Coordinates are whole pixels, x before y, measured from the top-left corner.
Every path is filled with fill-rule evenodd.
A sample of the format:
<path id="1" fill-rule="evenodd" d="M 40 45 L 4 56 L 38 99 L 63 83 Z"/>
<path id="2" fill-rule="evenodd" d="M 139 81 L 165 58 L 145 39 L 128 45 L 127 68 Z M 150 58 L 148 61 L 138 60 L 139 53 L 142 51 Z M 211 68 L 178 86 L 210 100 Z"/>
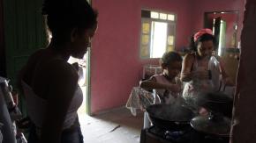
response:
<path id="1" fill-rule="evenodd" d="M 140 57 L 160 58 L 175 49 L 176 16 L 158 11 L 141 11 Z"/>

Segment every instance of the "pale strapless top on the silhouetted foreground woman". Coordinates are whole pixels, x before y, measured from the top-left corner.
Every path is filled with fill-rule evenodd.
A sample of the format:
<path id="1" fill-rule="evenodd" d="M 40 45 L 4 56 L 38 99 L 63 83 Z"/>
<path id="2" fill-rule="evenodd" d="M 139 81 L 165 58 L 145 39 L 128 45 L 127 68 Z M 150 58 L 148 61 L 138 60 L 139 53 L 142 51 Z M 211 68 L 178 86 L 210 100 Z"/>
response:
<path id="1" fill-rule="evenodd" d="M 24 89 L 26 97 L 26 108 L 29 118 L 33 121 L 35 126 L 41 127 L 47 106 L 47 101 L 45 99 L 42 99 L 41 97 L 38 97 L 34 93 L 34 90 L 29 85 L 27 85 L 26 82 L 22 81 L 22 87 Z M 70 104 L 70 107 L 64 119 L 63 129 L 67 129 L 74 124 L 77 118 L 77 111 L 82 102 L 83 92 L 78 85 L 74 97 L 72 98 L 72 103 Z"/>

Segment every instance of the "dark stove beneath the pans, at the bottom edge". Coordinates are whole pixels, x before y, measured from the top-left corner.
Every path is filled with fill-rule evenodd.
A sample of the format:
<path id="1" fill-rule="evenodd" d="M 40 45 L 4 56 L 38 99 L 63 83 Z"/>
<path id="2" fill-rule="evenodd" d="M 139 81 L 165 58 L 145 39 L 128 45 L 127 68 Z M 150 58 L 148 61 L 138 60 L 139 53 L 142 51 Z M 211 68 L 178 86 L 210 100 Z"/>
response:
<path id="1" fill-rule="evenodd" d="M 141 130 L 140 143 L 229 143 L 229 138 L 197 132 L 191 128 L 169 132 L 156 126 Z"/>

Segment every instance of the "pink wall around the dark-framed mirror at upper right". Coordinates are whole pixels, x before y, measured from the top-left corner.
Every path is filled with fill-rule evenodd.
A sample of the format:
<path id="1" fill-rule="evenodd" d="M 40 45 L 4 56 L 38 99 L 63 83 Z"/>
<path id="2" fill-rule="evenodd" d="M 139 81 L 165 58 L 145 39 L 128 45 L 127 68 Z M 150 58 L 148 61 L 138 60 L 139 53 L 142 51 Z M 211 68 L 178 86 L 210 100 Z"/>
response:
<path id="1" fill-rule="evenodd" d="M 245 0 L 215 0 L 209 4 L 206 0 L 193 0 L 192 32 L 196 32 L 204 26 L 204 12 L 210 11 L 239 11 L 237 39 L 240 40 L 242 22 L 244 17 Z"/>

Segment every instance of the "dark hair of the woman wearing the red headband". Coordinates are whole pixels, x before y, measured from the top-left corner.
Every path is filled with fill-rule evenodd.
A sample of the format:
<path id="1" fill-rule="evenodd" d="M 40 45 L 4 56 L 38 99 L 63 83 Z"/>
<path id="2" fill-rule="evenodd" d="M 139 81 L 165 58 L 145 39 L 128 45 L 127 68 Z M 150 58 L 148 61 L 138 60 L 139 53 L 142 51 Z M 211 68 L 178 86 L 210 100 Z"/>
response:
<path id="1" fill-rule="evenodd" d="M 200 36 L 196 41 L 194 41 L 194 35 L 192 35 L 191 41 L 190 41 L 190 49 L 193 52 L 197 51 L 198 44 L 200 42 L 204 42 L 207 40 L 212 40 L 214 43 L 214 46 L 216 46 L 216 39 L 215 36 L 209 33 L 205 33 L 202 36 Z"/>

